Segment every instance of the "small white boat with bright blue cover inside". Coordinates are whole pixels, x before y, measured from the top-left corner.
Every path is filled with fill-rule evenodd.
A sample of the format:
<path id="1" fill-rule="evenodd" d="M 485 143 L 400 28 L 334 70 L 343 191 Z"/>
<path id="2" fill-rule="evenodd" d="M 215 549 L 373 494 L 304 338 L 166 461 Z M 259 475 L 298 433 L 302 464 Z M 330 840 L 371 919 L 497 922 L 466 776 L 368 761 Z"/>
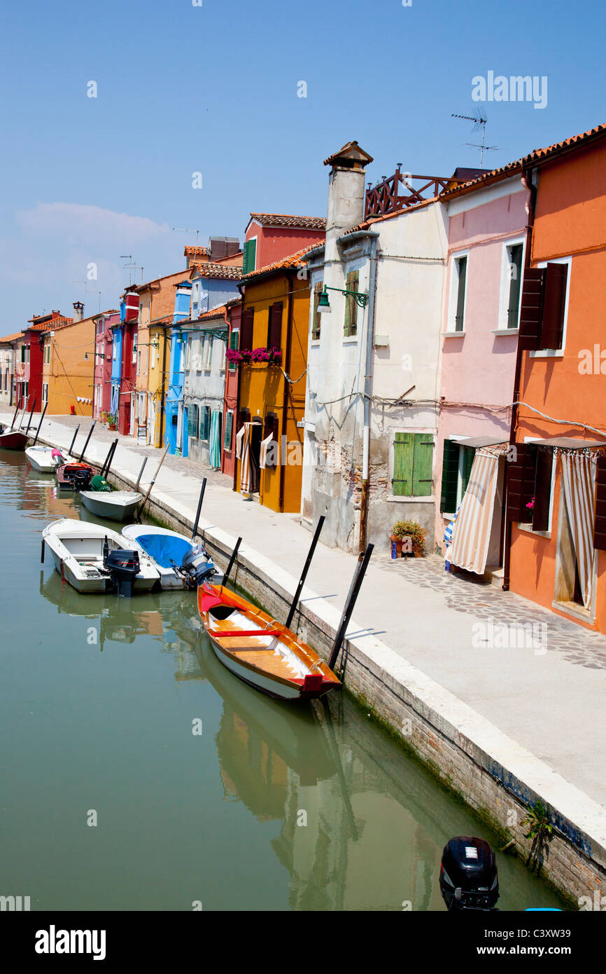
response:
<path id="1" fill-rule="evenodd" d="M 122 529 L 127 543 L 151 559 L 162 588 L 196 588 L 202 581 L 220 584 L 223 576 L 201 544 L 168 528 L 128 524 Z"/>

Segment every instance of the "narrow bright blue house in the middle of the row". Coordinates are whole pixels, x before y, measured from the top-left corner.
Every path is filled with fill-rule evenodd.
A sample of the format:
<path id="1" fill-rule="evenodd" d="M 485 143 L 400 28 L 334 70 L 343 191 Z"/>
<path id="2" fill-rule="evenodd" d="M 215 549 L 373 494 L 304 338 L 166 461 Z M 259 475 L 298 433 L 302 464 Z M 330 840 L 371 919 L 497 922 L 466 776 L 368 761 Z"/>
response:
<path id="1" fill-rule="evenodd" d="M 166 325 L 166 329 L 170 329 L 170 358 L 166 393 L 165 443 L 168 444 L 168 453 L 182 457 L 188 455 L 188 437 L 187 432 L 184 433 L 187 431 L 187 410 L 183 404 L 183 387 L 191 301 L 191 281 L 180 281 L 175 285 L 175 311 L 172 324 Z M 168 336 L 166 338 L 168 339 Z"/>

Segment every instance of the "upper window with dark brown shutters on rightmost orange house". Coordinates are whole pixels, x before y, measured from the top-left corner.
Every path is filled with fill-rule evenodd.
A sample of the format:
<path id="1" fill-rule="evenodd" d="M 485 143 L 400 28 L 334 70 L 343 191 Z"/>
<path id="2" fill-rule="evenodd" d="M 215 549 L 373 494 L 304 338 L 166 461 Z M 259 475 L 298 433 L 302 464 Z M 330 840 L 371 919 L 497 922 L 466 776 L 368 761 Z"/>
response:
<path id="1" fill-rule="evenodd" d="M 519 347 L 557 351 L 564 341 L 569 258 L 544 267 L 527 267 L 519 312 Z"/>

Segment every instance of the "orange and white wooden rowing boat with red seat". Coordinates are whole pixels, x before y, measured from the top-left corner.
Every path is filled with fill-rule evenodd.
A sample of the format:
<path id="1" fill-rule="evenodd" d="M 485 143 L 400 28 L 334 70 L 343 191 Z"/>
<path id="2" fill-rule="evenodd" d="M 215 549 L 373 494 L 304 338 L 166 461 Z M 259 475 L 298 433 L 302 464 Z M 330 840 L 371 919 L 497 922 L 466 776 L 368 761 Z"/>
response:
<path id="1" fill-rule="evenodd" d="M 294 632 L 223 585 L 200 585 L 197 609 L 215 656 L 257 690 L 282 700 L 309 700 L 340 687 L 324 660 Z"/>

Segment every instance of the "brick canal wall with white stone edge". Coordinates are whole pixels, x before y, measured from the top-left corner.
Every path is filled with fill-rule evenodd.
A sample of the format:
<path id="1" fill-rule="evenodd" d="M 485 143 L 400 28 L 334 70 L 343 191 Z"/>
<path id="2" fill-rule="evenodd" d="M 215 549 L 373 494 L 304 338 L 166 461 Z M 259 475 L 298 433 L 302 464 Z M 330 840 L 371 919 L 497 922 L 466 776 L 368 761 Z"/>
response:
<path id="1" fill-rule="evenodd" d="M 110 480 L 116 486 L 133 486 L 133 479 L 117 471 Z M 152 492 L 150 513 L 175 530 L 192 530 L 193 518 L 158 488 Z M 225 567 L 234 543 L 232 535 L 203 519 L 199 534 L 217 564 Z M 232 581 L 274 618 L 284 621 L 296 588 L 292 575 L 242 543 Z M 339 627 L 339 611 L 307 587 L 302 600 L 293 627 L 328 658 Z M 503 837 L 503 845 L 512 843 L 510 851 L 515 849 L 524 858 L 531 845 L 526 837 L 528 827 L 521 825 L 527 806 L 537 800 L 549 805 L 553 838 L 541 877 L 574 904 L 582 897 L 592 904 L 606 897 L 603 806 L 368 629 L 351 620 L 348 631 L 352 635 L 344 644 L 348 654 L 345 688 L 367 708 L 369 716 L 396 735 L 446 788 L 495 829 Z"/>

